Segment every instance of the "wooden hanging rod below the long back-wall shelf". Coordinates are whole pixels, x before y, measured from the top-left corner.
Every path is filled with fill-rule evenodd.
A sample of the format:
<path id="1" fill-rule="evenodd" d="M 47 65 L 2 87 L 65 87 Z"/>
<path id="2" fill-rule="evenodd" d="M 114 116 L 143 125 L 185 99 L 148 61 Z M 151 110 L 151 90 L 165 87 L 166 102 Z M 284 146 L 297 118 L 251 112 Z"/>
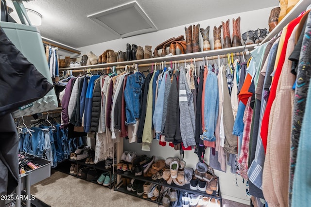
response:
<path id="1" fill-rule="evenodd" d="M 249 51 L 245 51 L 244 52 L 244 55 L 249 55 L 249 54 L 250 54 Z M 235 53 L 233 53 L 234 57 L 235 56 L 240 56 L 240 55 L 242 56 L 243 52 L 235 52 Z M 206 57 L 203 57 L 203 58 L 206 58 Z M 186 59 L 186 60 L 184 59 L 184 60 L 179 60 L 179 61 L 172 61 L 172 63 L 184 64 L 184 63 L 194 62 L 194 60 L 195 60 L 195 62 L 201 62 L 201 61 L 203 61 L 203 58 L 195 58 L 195 59 L 193 58 L 193 59 Z M 221 59 L 227 58 L 227 54 L 219 55 L 219 58 L 221 58 Z M 217 55 L 207 57 L 207 60 L 215 60 L 215 59 L 218 59 Z M 126 62 L 123 62 L 123 63 L 126 63 Z M 159 63 L 157 63 L 157 64 L 159 64 Z M 169 64 L 169 63 L 171 63 L 171 62 L 170 61 L 166 62 L 166 64 Z M 152 66 L 152 65 L 155 65 L 155 63 L 138 64 L 138 67 L 148 67 L 148 66 Z M 104 64 L 103 64 L 103 66 L 104 66 Z M 128 65 L 128 66 L 134 68 L 134 64 L 133 65 Z M 86 68 L 86 69 L 75 70 L 74 67 L 72 67 L 72 69 L 70 68 L 70 70 L 72 70 L 72 72 L 74 72 L 74 73 L 81 73 L 81 72 L 87 72 L 87 71 L 103 71 L 103 70 L 107 70 L 107 69 L 111 69 L 111 68 L 112 67 L 98 67 L 98 68 Z M 116 66 L 116 69 L 124 69 L 124 68 L 125 68 L 125 65 Z M 59 68 L 59 70 L 68 70 L 68 68 Z"/>

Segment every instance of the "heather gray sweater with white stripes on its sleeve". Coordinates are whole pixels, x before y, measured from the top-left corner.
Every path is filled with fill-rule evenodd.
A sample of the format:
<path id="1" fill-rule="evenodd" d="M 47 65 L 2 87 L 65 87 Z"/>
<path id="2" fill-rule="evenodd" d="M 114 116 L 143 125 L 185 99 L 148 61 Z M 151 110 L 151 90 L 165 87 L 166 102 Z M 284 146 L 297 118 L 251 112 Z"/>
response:
<path id="1" fill-rule="evenodd" d="M 179 75 L 179 108 L 180 132 L 184 146 L 194 146 L 195 143 L 195 114 L 193 94 L 186 80 L 186 68 L 180 67 Z"/>

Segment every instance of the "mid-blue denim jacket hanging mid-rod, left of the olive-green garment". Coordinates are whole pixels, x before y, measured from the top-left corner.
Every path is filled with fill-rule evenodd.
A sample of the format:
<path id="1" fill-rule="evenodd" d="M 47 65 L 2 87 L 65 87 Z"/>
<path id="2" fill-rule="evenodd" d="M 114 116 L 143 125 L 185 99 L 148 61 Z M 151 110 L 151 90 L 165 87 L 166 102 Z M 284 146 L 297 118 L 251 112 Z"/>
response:
<path id="1" fill-rule="evenodd" d="M 145 76 L 138 72 L 127 77 L 124 89 L 125 125 L 136 124 L 136 118 L 140 117 L 141 86 L 144 80 Z"/>

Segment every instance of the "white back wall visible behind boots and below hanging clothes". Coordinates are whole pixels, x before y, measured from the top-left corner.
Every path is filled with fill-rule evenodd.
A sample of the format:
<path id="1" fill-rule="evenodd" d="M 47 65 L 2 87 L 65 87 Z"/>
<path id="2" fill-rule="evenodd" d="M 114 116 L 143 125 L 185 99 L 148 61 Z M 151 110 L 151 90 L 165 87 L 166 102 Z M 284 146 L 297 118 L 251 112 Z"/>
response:
<path id="1" fill-rule="evenodd" d="M 238 16 L 241 16 L 241 34 L 249 30 L 256 30 L 258 28 L 268 29 L 268 18 L 269 18 L 270 11 L 272 8 L 273 7 L 269 7 L 266 9 L 260 9 L 260 10 L 251 11 L 251 12 L 244 12 L 244 13 L 235 14 L 235 15 L 207 19 L 207 20 L 200 21 L 200 22 L 194 22 L 193 24 L 200 23 L 200 27 L 202 28 L 206 28 L 207 25 L 210 26 L 209 40 L 211 43 L 211 47 L 213 48 L 213 32 L 212 31 L 213 31 L 214 25 L 218 27 L 219 25 L 221 25 L 222 21 L 230 19 L 231 38 L 232 38 L 232 18 L 237 18 Z M 207 8 L 207 12 L 208 12 L 208 9 L 209 8 Z M 182 15 L 182 13 L 179 13 L 179 15 Z M 188 27 L 189 25 L 184 25 L 184 26 Z M 185 35 L 184 26 L 178 26 L 178 27 L 174 27 L 171 29 L 167 29 L 167 30 L 142 34 L 142 35 L 128 37 L 124 39 L 113 40 L 113 41 L 91 45 L 91 46 L 87 46 L 87 47 L 83 47 L 79 49 L 82 51 L 82 54 L 85 54 L 88 51 L 93 51 L 96 55 L 100 55 L 104 52 L 105 49 L 113 49 L 115 51 L 118 51 L 119 49 L 121 49 L 123 52 L 125 52 L 126 43 L 137 44 L 142 47 L 145 45 L 151 45 L 152 48 L 155 48 L 158 44 L 160 44 L 161 42 L 171 37 L 177 37 L 181 34 Z M 200 34 L 200 45 L 202 48 L 203 41 L 202 41 L 201 34 Z M 128 143 L 128 141 L 124 141 L 124 150 L 135 151 L 139 155 L 141 154 L 146 154 L 148 156 L 155 155 L 163 159 L 168 158 L 168 157 L 174 157 L 174 156 L 179 157 L 179 151 L 175 151 L 173 148 L 168 146 L 168 144 L 167 146 L 162 147 L 158 144 L 156 140 L 153 142 L 151 146 L 151 152 L 143 152 L 141 151 L 141 144 Z M 187 167 L 195 168 L 195 164 L 198 161 L 198 157 L 193 151 L 185 151 L 184 160 L 187 163 Z M 208 163 L 209 149 L 206 150 L 205 160 Z M 220 178 L 220 187 L 221 187 L 221 193 L 222 193 L 223 198 L 241 202 L 244 204 L 250 203 L 250 199 L 247 198 L 245 195 L 245 183 L 242 183 L 241 176 L 237 175 L 237 182 L 238 182 L 239 187 L 236 186 L 236 176 L 230 173 L 230 166 L 227 167 L 226 173 L 215 171 L 215 174 L 219 176 Z"/>

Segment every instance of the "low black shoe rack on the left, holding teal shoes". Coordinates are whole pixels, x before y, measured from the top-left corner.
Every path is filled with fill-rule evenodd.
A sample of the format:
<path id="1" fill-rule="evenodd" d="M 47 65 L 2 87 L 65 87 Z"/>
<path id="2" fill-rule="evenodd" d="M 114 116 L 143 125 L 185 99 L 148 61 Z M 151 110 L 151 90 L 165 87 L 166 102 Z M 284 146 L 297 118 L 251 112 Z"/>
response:
<path id="1" fill-rule="evenodd" d="M 74 163 L 74 164 L 77 164 L 78 166 L 78 170 L 77 170 L 77 175 L 72 175 L 72 176 L 75 176 L 77 178 L 80 178 L 80 179 L 83 179 L 83 180 L 86 180 L 86 178 L 82 178 L 80 176 L 78 176 L 78 172 L 79 172 L 79 169 L 83 168 L 83 167 L 89 167 L 89 168 L 95 168 L 98 172 L 99 172 L 99 175 L 98 177 L 103 173 L 103 172 L 108 172 L 109 173 L 109 176 L 110 176 L 110 185 L 109 186 L 103 186 L 103 187 L 108 187 L 109 189 L 112 189 L 114 183 L 111 182 L 111 177 L 114 176 L 113 174 L 113 171 L 112 171 L 112 166 L 111 168 L 108 168 L 106 169 L 105 168 L 105 161 L 101 161 L 101 162 L 98 162 L 96 164 L 86 164 L 85 163 L 85 160 L 86 159 L 81 159 L 81 160 L 75 160 L 75 159 L 67 159 L 67 160 L 64 160 L 63 162 L 61 163 L 58 163 L 57 164 L 57 167 L 55 168 L 56 170 L 62 172 L 62 173 L 66 173 L 68 175 L 72 175 L 69 173 L 70 171 L 70 166 L 71 166 L 71 163 Z M 89 181 L 89 180 L 86 180 L 86 181 Z M 97 180 L 90 180 L 89 182 L 92 182 L 92 183 L 97 183 Z M 98 184 L 100 185 L 100 184 Z"/>

